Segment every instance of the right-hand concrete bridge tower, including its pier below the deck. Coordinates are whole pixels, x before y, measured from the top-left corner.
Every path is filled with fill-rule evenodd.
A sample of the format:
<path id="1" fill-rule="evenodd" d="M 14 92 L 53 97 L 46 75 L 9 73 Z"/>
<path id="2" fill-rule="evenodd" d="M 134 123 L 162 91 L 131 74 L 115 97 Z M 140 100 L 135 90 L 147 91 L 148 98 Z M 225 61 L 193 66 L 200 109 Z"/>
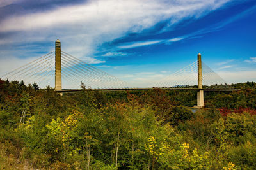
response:
<path id="1" fill-rule="evenodd" d="M 203 90 L 203 79 L 202 79 L 202 60 L 201 54 L 197 55 L 197 78 L 198 78 L 198 89 L 197 92 L 197 107 L 204 107 L 204 90 Z"/>

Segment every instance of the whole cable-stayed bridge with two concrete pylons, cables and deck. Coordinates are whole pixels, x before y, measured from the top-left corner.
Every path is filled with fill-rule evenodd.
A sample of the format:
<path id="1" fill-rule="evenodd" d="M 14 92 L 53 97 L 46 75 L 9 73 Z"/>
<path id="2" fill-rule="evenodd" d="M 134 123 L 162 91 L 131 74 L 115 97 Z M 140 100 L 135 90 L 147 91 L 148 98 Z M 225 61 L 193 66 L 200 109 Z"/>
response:
<path id="1" fill-rule="evenodd" d="M 197 106 L 204 106 L 204 91 L 235 91 L 218 74 L 202 62 L 201 54 L 197 60 L 166 78 L 156 80 L 148 87 L 133 87 L 131 84 L 112 76 L 99 68 L 84 62 L 61 50 L 61 42 L 55 42 L 55 53 L 46 55 L 1 76 L 3 79 L 24 80 L 25 83 L 38 83 L 40 88 L 54 87 L 63 92 L 81 90 L 81 82 L 92 90 L 196 90 Z"/>

